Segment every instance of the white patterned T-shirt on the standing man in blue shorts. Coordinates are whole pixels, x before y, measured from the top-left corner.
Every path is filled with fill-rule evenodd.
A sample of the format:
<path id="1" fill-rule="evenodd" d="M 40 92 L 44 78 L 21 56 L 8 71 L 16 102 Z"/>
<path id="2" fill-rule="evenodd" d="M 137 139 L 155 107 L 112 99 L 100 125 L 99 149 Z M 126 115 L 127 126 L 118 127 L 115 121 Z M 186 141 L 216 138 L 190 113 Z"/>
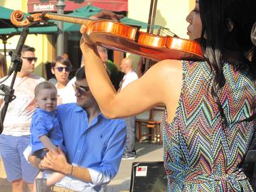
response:
<path id="1" fill-rule="evenodd" d="M 10 86 L 12 78 L 13 74 L 3 84 Z M 16 77 L 14 82 L 14 95 L 16 95 L 16 99 L 9 103 L 2 134 L 16 137 L 31 134 L 31 116 L 36 110 L 34 89 L 36 85 L 43 81 L 43 78 L 33 73 L 24 78 Z M 1 99 L 3 98 L 1 96 Z M 3 106 L 4 103 L 1 107 Z"/>

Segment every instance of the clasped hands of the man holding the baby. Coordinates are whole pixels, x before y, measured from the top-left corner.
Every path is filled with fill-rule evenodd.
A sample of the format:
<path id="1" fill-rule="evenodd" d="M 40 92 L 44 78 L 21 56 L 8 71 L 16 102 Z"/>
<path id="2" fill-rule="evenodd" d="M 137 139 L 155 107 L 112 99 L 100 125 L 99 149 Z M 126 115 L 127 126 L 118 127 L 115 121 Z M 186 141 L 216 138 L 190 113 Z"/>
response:
<path id="1" fill-rule="evenodd" d="M 68 164 L 65 154 L 60 147 L 58 147 L 58 154 L 56 154 L 54 151 L 49 151 L 41 161 L 41 165 L 63 174 L 70 174 L 71 170 L 71 165 Z"/>

